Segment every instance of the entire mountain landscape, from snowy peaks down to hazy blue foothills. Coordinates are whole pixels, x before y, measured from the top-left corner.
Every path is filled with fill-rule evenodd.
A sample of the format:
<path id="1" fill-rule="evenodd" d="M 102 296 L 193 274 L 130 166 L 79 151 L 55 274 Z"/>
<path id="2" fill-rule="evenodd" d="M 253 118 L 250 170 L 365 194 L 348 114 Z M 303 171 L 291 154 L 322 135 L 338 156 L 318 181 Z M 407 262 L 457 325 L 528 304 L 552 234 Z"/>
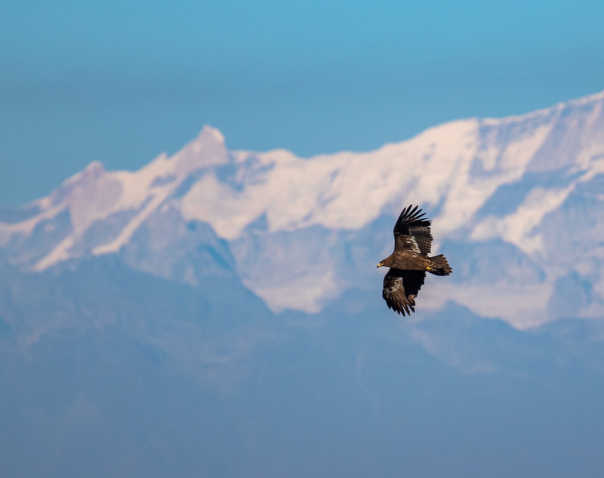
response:
<path id="1" fill-rule="evenodd" d="M 603 103 L 306 159 L 205 127 L 0 210 L 0 476 L 602 476 Z M 400 317 L 409 203 L 454 273 Z"/>

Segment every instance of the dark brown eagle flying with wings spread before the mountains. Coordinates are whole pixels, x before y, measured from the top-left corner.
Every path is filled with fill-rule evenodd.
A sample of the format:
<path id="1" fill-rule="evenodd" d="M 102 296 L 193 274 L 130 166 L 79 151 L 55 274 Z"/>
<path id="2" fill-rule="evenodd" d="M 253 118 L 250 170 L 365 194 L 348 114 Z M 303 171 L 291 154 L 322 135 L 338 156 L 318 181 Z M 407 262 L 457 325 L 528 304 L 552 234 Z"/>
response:
<path id="1" fill-rule="evenodd" d="M 403 316 L 415 312 L 415 298 L 426 272 L 440 276 L 453 272 L 444 255 L 428 257 L 432 221 L 418 208 L 410 205 L 400 213 L 394 224 L 394 252 L 377 263 L 377 267 L 390 267 L 384 276 L 382 297 L 388 308 Z"/>

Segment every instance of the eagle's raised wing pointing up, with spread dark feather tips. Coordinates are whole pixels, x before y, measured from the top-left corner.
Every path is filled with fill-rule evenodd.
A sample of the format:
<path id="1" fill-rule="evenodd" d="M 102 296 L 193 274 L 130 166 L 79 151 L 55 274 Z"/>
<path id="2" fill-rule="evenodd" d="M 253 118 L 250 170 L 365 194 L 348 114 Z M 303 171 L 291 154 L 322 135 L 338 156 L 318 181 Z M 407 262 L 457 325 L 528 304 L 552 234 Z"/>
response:
<path id="1" fill-rule="evenodd" d="M 403 209 L 394 225 L 394 250 L 408 250 L 428 257 L 432 247 L 431 221 L 424 218 L 425 212 L 413 205 Z M 412 209 L 413 208 L 413 209 Z"/>

